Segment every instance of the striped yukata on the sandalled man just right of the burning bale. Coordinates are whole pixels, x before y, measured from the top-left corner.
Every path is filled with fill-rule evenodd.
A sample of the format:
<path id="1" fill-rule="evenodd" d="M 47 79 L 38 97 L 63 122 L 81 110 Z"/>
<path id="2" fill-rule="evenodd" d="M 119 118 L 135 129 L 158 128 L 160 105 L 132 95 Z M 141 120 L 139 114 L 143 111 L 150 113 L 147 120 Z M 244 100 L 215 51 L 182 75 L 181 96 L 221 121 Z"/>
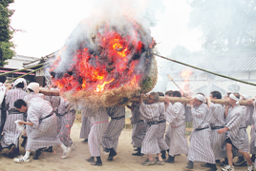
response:
<path id="1" fill-rule="evenodd" d="M 160 146 L 158 143 L 160 109 L 159 104 L 140 104 L 139 111 L 146 122 L 149 124 L 145 138 L 142 142 L 141 153 L 159 154 Z"/>

